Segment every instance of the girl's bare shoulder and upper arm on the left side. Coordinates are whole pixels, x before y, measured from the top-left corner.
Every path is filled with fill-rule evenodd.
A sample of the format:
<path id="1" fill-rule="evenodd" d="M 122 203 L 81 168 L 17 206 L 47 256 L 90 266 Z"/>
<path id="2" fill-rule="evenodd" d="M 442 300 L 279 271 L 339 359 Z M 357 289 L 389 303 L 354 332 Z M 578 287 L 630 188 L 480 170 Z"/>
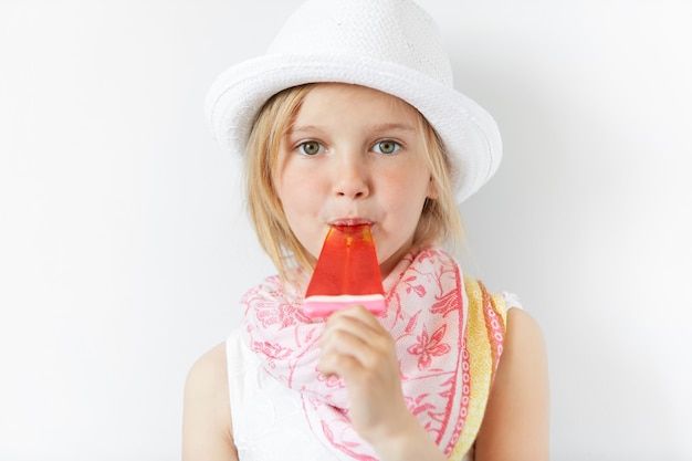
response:
<path id="1" fill-rule="evenodd" d="M 233 460 L 226 344 L 202 355 L 185 384 L 184 460 Z"/>

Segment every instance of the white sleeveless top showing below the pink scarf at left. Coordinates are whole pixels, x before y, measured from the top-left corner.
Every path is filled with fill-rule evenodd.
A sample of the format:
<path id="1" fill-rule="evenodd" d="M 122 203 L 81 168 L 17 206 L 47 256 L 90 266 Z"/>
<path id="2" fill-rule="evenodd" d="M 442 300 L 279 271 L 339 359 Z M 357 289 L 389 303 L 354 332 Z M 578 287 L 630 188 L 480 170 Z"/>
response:
<path id="1" fill-rule="evenodd" d="M 262 370 L 258 357 L 240 339 L 240 329 L 226 340 L 226 354 L 233 440 L 240 461 L 350 460 L 313 434 L 298 392 Z M 471 452 L 463 459 L 472 460 Z"/>

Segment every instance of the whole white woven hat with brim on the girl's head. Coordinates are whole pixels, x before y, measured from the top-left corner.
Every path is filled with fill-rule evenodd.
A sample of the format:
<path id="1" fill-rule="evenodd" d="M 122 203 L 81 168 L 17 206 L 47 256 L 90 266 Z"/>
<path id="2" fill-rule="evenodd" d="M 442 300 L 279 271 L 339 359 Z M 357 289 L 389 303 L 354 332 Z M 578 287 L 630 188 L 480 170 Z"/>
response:
<path id="1" fill-rule="evenodd" d="M 244 154 L 262 105 L 316 82 L 368 86 L 416 107 L 442 138 L 460 202 L 500 165 L 495 121 L 454 90 L 438 28 L 410 0 L 307 0 L 266 54 L 232 66 L 211 86 L 207 113 L 216 138 Z"/>

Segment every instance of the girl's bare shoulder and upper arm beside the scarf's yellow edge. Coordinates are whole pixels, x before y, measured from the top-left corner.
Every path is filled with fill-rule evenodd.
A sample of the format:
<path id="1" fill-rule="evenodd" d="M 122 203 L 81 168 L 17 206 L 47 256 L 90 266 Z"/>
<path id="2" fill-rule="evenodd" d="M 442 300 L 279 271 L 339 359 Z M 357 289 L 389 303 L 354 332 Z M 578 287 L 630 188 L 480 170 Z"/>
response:
<path id="1" fill-rule="evenodd" d="M 476 439 L 478 460 L 547 460 L 549 397 L 543 332 L 526 312 L 507 312 L 504 350 Z"/>

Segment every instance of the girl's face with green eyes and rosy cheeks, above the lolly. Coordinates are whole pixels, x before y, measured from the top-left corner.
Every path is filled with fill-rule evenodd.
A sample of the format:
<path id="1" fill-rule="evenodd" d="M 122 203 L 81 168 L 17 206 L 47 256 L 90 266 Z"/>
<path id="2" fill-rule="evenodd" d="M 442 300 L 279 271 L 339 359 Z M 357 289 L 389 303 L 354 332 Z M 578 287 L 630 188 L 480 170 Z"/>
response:
<path id="1" fill-rule="evenodd" d="M 376 90 L 337 83 L 307 93 L 283 136 L 274 184 L 298 241 L 319 255 L 329 224 L 371 224 L 382 275 L 410 250 L 436 198 L 416 109 Z"/>

